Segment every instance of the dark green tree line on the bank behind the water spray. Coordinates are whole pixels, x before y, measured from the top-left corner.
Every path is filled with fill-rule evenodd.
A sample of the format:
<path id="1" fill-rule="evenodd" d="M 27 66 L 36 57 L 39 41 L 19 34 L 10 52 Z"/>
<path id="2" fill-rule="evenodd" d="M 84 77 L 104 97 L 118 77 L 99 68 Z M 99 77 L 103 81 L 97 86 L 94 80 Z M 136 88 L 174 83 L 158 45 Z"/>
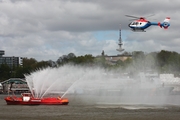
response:
<path id="1" fill-rule="evenodd" d="M 11 69 L 7 64 L 0 65 L 0 81 L 9 78 L 24 78 L 38 69 L 47 67 L 60 67 L 65 64 L 99 66 L 105 69 L 122 69 L 128 72 L 156 70 L 158 73 L 173 73 L 179 76 L 180 54 L 177 52 L 161 50 L 160 52 L 144 53 L 142 51 L 132 52 L 132 57 L 124 61 L 118 60 L 115 64 L 109 64 L 106 55 L 94 57 L 91 54 L 76 56 L 74 53 L 60 56 L 57 61 L 37 61 L 34 58 L 23 58 L 23 65 Z"/>

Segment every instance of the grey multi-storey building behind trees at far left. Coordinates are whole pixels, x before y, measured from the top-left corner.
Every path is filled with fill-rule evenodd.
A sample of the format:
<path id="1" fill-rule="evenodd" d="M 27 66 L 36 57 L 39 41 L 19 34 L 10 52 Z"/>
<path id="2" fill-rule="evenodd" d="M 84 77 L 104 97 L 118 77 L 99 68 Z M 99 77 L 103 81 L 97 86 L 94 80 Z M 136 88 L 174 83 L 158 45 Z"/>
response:
<path id="1" fill-rule="evenodd" d="M 7 64 L 11 69 L 13 69 L 13 67 L 18 67 L 21 64 L 20 62 L 22 61 L 22 58 L 15 56 L 4 57 L 4 54 L 5 51 L 0 50 L 0 65 Z"/>

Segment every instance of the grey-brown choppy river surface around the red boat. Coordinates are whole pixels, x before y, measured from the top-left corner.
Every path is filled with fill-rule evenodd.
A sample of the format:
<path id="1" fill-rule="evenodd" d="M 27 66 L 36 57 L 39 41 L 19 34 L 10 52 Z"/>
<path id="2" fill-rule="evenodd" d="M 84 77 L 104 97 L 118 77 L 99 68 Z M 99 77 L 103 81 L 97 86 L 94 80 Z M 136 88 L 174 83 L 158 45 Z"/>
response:
<path id="1" fill-rule="evenodd" d="M 0 95 L 0 120 L 179 120 L 180 118 L 180 96 L 171 96 L 171 99 L 174 99 L 171 102 L 175 104 L 166 105 L 119 104 L 109 101 L 94 103 L 92 100 L 84 101 L 85 99 L 81 99 L 82 96 L 69 96 L 70 103 L 67 106 L 6 105 L 5 96 Z"/>

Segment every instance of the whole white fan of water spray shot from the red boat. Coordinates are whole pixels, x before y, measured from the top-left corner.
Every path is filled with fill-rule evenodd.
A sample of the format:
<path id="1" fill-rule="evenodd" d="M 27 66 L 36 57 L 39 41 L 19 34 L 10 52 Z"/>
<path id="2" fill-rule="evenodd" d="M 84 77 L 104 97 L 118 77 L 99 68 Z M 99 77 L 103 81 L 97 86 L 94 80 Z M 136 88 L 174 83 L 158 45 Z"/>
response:
<path id="1" fill-rule="evenodd" d="M 54 93 L 61 97 L 68 93 L 83 94 L 84 101 L 93 99 L 98 103 L 167 104 L 169 90 L 161 84 L 142 78 L 131 79 L 117 71 L 73 65 L 42 69 L 27 75 L 26 80 L 34 97 Z"/>

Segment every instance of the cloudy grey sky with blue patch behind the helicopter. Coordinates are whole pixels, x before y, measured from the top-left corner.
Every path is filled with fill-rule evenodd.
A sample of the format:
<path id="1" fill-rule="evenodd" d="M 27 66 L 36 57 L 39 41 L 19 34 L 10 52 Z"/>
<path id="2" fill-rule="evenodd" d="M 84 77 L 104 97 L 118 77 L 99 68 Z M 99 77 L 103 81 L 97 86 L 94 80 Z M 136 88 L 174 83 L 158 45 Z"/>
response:
<path id="1" fill-rule="evenodd" d="M 117 55 L 119 29 L 126 52 L 180 53 L 180 0 L 0 0 L 0 50 L 4 56 L 56 61 L 63 55 Z M 125 15 L 162 22 L 133 32 Z"/>

